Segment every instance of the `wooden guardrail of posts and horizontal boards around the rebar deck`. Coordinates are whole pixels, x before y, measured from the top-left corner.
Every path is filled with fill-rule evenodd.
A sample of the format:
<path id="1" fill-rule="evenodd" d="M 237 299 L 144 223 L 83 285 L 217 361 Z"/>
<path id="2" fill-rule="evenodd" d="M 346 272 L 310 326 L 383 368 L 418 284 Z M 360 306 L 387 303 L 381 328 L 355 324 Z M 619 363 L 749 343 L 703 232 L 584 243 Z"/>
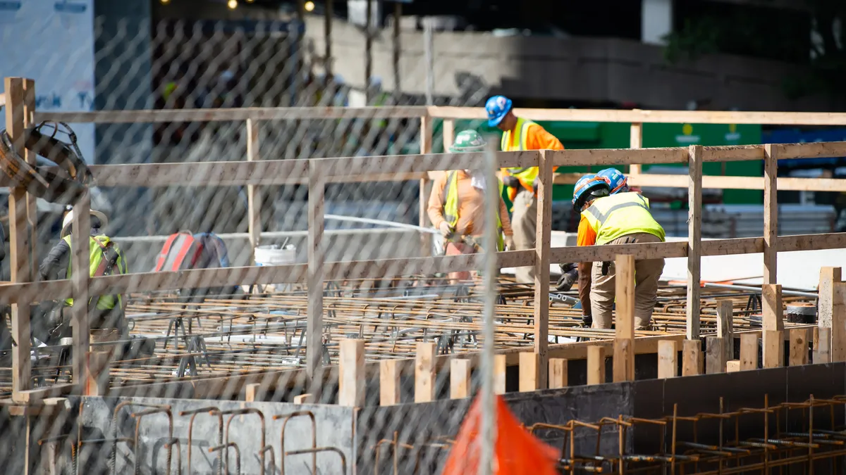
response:
<path id="1" fill-rule="evenodd" d="M 248 131 L 247 161 L 202 162 L 168 164 L 107 165 L 93 167 L 96 183 L 100 186 L 248 186 L 250 194 L 250 235 L 257 238 L 258 209 L 261 204 L 255 199 L 255 186 L 286 183 L 307 183 L 308 201 L 308 264 L 271 265 L 262 267 L 237 267 L 229 269 L 184 270 L 179 272 L 140 273 L 125 276 L 103 276 L 90 278 L 84 272 L 74 273 L 72 281 L 32 282 L 34 273 L 34 249 L 26 239 L 28 213 L 26 202 L 32 197 L 25 190 L 15 189 L 10 194 L 9 216 L 12 283 L 0 285 L 0 301 L 12 303 L 12 333 L 17 346 L 13 348 L 14 399 L 29 401 L 69 387 L 31 390 L 29 306 L 36 300 L 58 299 L 73 296 L 80 302 L 88 295 L 116 292 L 146 292 L 160 289 L 190 287 L 222 287 L 225 285 L 250 285 L 276 282 L 305 281 L 308 283 L 309 306 L 307 326 L 306 369 L 310 377 L 316 375 L 321 356 L 321 325 L 323 318 L 323 282 L 326 279 L 365 278 L 397 276 L 420 273 L 470 270 L 478 267 L 475 256 L 420 257 L 415 259 L 378 259 L 350 262 L 326 262 L 322 246 L 324 189 L 333 181 L 356 181 L 384 177 L 385 179 L 409 179 L 426 173 L 451 169 L 469 168 L 483 160 L 484 154 L 431 154 L 417 156 L 348 157 L 305 160 L 259 160 L 260 150 L 255 121 L 270 119 L 315 119 L 339 117 L 420 117 L 421 150 L 431 150 L 432 117 L 459 117 L 455 108 L 437 107 L 363 107 L 363 108 L 272 108 L 272 109 L 221 109 L 200 111 L 119 111 L 119 112 L 62 112 L 35 114 L 34 90 L 28 79 L 7 78 L 5 94 L 7 101 L 7 127 L 14 144 L 34 161 L 30 152 L 20 147 L 25 127 L 41 120 L 62 120 L 69 122 L 161 122 L 186 120 L 245 120 Z M 26 92 L 26 93 L 25 93 Z M 31 94 L 30 94 L 31 93 Z M 473 117 L 481 116 L 481 109 L 466 110 Z M 548 118 L 552 112 L 542 110 L 530 113 L 517 111 L 524 117 Z M 448 115 L 453 114 L 453 115 Z M 766 112 L 647 112 L 647 111 L 558 111 L 559 120 L 573 117 L 591 117 L 590 120 L 612 120 L 619 122 L 640 117 L 641 122 L 720 122 L 720 123 L 846 123 L 846 114 L 772 113 L 767 121 Z M 744 115 L 745 114 L 745 115 Z M 466 115 L 466 114 L 465 114 Z M 460 116 L 464 117 L 464 116 Z M 564 118 L 560 118 L 564 117 Z M 569 118 L 568 118 L 569 117 Z M 584 120 L 587 120 L 586 118 Z M 639 126 L 634 128 L 639 128 Z M 633 136 L 634 137 L 634 136 Z M 632 140 L 632 145 L 637 140 Z M 846 156 L 846 143 L 815 143 L 791 145 L 745 145 L 740 147 L 703 147 L 691 145 L 686 148 L 624 149 L 624 150 L 529 150 L 519 152 L 497 152 L 495 158 L 499 167 L 539 167 L 540 186 L 537 219 L 539 247 L 533 250 L 507 251 L 497 253 L 500 266 L 535 265 L 534 325 L 537 355 L 538 386 L 547 386 L 548 347 L 547 326 L 549 309 L 549 265 L 551 262 L 585 262 L 615 259 L 618 254 L 629 254 L 634 259 L 655 259 L 668 257 L 688 258 L 688 298 L 686 338 L 697 341 L 700 336 L 700 257 L 702 255 L 764 254 L 764 284 L 766 295 L 780 295 L 776 283 L 777 252 L 788 250 L 811 250 L 846 247 L 846 234 L 828 233 L 806 236 L 777 236 L 777 197 L 780 180 L 776 177 L 779 158 L 804 158 L 821 156 Z M 760 183 L 765 192 L 764 232 L 761 238 L 717 239 L 706 243 L 701 241 L 701 192 L 705 180 L 702 164 L 706 161 L 756 160 L 765 162 L 764 177 L 750 177 Z M 684 180 L 689 195 L 689 238 L 687 243 L 636 243 L 584 248 L 552 248 L 550 232 L 552 220 L 553 183 L 552 167 L 561 165 L 619 166 L 629 165 L 637 172 L 643 164 L 687 163 L 688 176 Z M 636 178 L 635 178 L 636 180 Z M 722 180 L 722 177 L 721 177 Z M 846 180 L 800 180 L 805 189 L 827 190 L 840 188 Z M 634 183 L 637 183 L 634 181 Z M 421 183 L 422 184 L 422 183 Z M 683 183 L 678 182 L 681 186 Z M 721 183 L 713 183 L 720 185 Z M 666 186 L 662 184 L 662 186 Z M 756 185 L 757 186 L 757 185 Z M 720 186 L 719 188 L 723 188 Z M 844 188 L 846 189 L 846 188 Z M 426 187 L 420 187 L 421 202 L 425 202 Z M 34 201 L 34 199 L 33 199 Z M 87 269 L 89 253 L 83 239 L 89 228 L 86 212 L 90 200 L 86 197 L 76 205 L 74 213 L 73 265 Z M 34 212 L 34 206 L 30 209 Z M 420 219 L 425 221 L 425 207 L 421 206 Z M 32 220 L 33 215 L 29 215 Z M 35 222 L 35 221 L 31 221 Z M 780 305 L 780 300 L 778 301 Z M 780 313 L 774 300 L 764 299 L 764 318 Z M 83 387 L 86 375 L 85 355 L 89 351 L 87 339 L 86 308 L 74 307 L 74 384 Z"/>

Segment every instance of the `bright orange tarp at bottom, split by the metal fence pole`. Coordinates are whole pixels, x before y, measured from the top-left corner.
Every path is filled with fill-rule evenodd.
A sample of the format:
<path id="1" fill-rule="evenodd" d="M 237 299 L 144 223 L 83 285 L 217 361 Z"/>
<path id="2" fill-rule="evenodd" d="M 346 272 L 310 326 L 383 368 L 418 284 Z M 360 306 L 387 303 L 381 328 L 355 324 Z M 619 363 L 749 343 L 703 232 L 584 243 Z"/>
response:
<path id="1" fill-rule="evenodd" d="M 497 443 L 494 446 L 494 475 L 558 475 L 558 450 L 536 439 L 520 426 L 501 396 L 497 396 Z M 461 424 L 443 475 L 479 472 L 481 458 L 481 404 L 476 396 Z"/>

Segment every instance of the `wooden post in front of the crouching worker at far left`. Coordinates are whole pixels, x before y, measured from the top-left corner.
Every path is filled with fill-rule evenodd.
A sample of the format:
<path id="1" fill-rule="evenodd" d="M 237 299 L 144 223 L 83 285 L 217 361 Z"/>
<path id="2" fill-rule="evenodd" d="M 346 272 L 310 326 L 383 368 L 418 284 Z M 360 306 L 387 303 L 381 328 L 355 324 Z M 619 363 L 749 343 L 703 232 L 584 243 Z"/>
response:
<path id="1" fill-rule="evenodd" d="M 74 224 L 70 236 L 71 249 L 71 288 L 74 296 L 73 307 L 70 308 L 71 325 L 74 328 L 74 385 L 83 389 L 87 380 L 87 366 L 85 353 L 91 348 L 91 330 L 88 325 L 88 272 L 90 267 L 91 248 L 91 195 L 87 191 L 80 194 L 80 199 L 74 205 Z M 80 272 L 80 270 L 82 270 Z"/>

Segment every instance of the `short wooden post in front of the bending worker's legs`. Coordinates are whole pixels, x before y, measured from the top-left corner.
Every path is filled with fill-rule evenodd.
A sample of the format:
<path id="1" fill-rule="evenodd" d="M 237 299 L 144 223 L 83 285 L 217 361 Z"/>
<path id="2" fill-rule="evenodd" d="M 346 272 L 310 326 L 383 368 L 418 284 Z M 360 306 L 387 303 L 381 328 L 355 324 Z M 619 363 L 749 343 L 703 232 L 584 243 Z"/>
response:
<path id="1" fill-rule="evenodd" d="M 634 256 L 621 254 L 617 271 L 617 323 L 614 330 L 613 381 L 634 381 Z"/>

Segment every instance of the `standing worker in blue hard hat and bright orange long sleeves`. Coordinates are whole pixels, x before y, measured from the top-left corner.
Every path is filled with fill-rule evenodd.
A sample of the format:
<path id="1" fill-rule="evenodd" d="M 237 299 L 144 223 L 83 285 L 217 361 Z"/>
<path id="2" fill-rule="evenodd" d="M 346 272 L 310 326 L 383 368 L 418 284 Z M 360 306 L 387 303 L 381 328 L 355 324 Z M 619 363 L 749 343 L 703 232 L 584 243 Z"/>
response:
<path id="1" fill-rule="evenodd" d="M 485 110 L 487 124 L 503 131 L 501 150 L 564 150 L 561 142 L 540 125 L 516 117 L 507 97 L 491 97 L 485 104 Z M 508 187 L 508 198 L 514 204 L 511 215 L 514 245 L 516 249 L 535 248 L 537 167 L 503 168 L 502 175 L 503 184 Z M 515 277 L 518 282 L 532 283 L 535 281 L 535 268 L 518 267 Z"/>

